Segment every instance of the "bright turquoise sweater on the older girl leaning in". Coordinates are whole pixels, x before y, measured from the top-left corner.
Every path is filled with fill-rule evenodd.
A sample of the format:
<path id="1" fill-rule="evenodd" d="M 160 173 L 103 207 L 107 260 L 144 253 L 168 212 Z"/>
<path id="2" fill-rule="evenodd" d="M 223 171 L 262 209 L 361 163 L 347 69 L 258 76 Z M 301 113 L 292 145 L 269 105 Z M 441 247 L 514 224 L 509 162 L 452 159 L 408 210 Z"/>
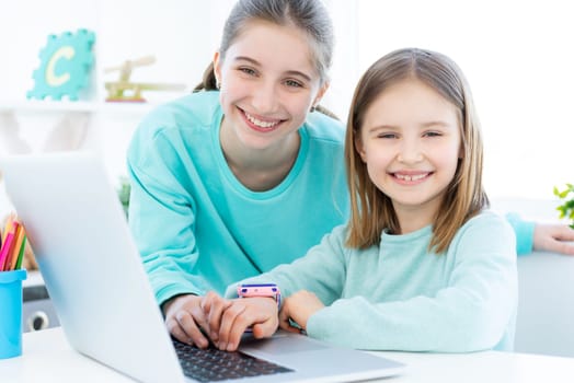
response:
<path id="1" fill-rule="evenodd" d="M 290 263 L 348 216 L 341 123 L 310 114 L 287 177 L 255 193 L 221 151 L 218 97 L 200 92 L 160 107 L 129 148 L 129 224 L 159 303 L 223 293 L 233 280 Z"/>

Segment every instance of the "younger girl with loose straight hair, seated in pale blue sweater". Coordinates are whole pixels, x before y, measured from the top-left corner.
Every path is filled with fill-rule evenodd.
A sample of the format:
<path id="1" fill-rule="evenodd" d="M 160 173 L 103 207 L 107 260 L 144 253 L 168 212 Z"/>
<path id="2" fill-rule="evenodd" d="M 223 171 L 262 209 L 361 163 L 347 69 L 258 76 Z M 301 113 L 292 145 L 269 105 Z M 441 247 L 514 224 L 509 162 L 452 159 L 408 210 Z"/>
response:
<path id="1" fill-rule="evenodd" d="M 248 326 L 265 337 L 280 325 L 360 349 L 512 349 L 515 236 L 486 209 L 481 131 L 456 63 L 422 49 L 375 62 L 355 91 L 345 161 L 348 224 L 248 280 L 279 287 L 278 317 L 269 298 L 208 295 L 217 346 L 233 350 Z"/>

